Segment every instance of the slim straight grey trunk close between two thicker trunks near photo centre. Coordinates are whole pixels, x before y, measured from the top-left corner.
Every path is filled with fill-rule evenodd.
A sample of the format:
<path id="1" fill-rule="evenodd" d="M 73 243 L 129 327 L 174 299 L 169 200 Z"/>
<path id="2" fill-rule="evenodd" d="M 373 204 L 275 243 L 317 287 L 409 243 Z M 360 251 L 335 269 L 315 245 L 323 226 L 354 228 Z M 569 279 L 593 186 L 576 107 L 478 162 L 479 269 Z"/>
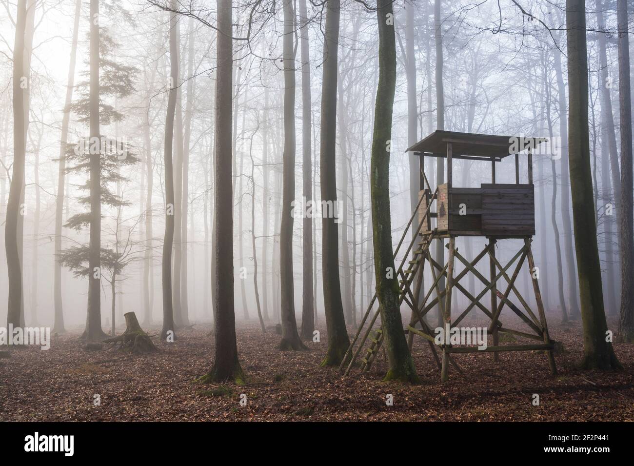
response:
<path id="1" fill-rule="evenodd" d="M 311 147 L 311 67 L 308 46 L 307 0 L 299 0 L 299 40 L 302 56 L 302 195 L 306 202 L 313 201 L 313 159 Z M 255 254 L 255 253 L 254 253 Z M 302 220 L 302 340 L 313 338 L 313 217 Z"/>

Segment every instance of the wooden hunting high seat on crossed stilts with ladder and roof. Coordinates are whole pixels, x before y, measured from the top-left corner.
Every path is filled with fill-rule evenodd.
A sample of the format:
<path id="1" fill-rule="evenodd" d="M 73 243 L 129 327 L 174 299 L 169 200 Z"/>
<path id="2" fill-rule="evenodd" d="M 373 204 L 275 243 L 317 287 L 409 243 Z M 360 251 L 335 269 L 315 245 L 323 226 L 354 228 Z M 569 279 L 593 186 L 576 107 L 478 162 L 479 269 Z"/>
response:
<path id="1" fill-rule="evenodd" d="M 547 141 L 545 138 L 456 133 L 455 131 L 438 130 L 406 151 L 419 157 L 420 190 L 418 193 L 418 205 L 411 216 L 410 222 L 403 231 L 403 236 L 401 236 L 396 252 L 394 252 L 394 257 L 397 257 L 406 234 L 411 231 L 411 224 L 417 219 L 417 235 L 412 238 L 408 249 L 401 252 L 403 259 L 397 271 L 401 289 L 400 302 L 406 303 L 411 309 L 410 325 L 405 328 L 405 332 L 408 333 L 410 348 L 413 335 L 419 335 L 427 340 L 441 370 L 441 380 L 443 381 L 448 379 L 450 364 L 458 372 L 462 372 L 451 354 L 475 353 L 477 351 L 493 353 L 494 361 L 497 361 L 498 353 L 501 351 L 544 350 L 548 355 L 551 372 L 554 374 L 557 371 L 555 359 L 553 358 L 553 342 L 548 335 L 538 277 L 537 274 L 533 273 L 536 268 L 533 252 L 531 251 L 532 236 L 535 234 L 533 151 L 545 141 Z M 521 153 L 527 155 L 526 183 L 520 183 L 519 156 Z M 510 155 L 515 157 L 515 183 L 496 183 L 496 162 L 500 162 Z M 425 176 L 425 157 L 447 160 L 446 183 L 439 184 L 433 191 L 431 186 L 429 186 L 427 176 Z M 453 159 L 490 162 L 491 183 L 482 183 L 479 188 L 454 187 Z M 488 239 L 488 243 L 474 259 L 468 260 L 455 247 L 455 238 L 458 236 L 484 236 Z M 415 245 L 417 238 L 418 243 Z M 449 239 L 447 245 L 444 245 L 445 238 Z M 495 257 L 495 245 L 498 240 L 506 239 L 521 239 L 523 244 L 507 265 L 502 266 Z M 433 242 L 436 242 L 437 246 L 446 247 L 449 250 L 446 264 L 439 264 L 432 257 L 430 247 Z M 410 252 L 411 260 L 406 264 L 405 262 L 410 257 Z M 485 256 L 489 257 L 490 274 L 488 279 L 476 268 L 477 263 Z M 455 259 L 458 259 L 464 266 L 462 271 L 457 274 L 454 272 Z M 515 287 L 515 280 L 525 259 L 527 259 L 529 266 L 528 273 L 531 274 L 533 281 L 533 291 L 539 317 L 531 310 L 526 299 L 522 297 Z M 507 270 L 516 261 L 517 264 L 514 266 L 514 271 L 509 276 Z M 426 293 L 421 293 L 425 262 L 429 264 L 432 284 Z M 470 294 L 459 283 L 469 273 L 484 284 L 484 290 L 477 296 Z M 447 280 L 446 286 L 444 285 L 445 278 Z M 505 280 L 506 282 L 503 293 L 496 286 L 498 280 Z M 413 289 L 412 285 L 414 285 Z M 465 311 L 452 321 L 451 294 L 454 289 L 462 292 L 469 299 L 470 304 Z M 523 311 L 511 301 L 511 292 L 516 295 L 517 301 L 524 308 Z M 482 298 L 486 294 L 490 294 L 491 297 L 490 307 L 482 304 Z M 361 359 L 361 370 L 363 372 L 367 371 L 379 354 L 384 334 L 381 328 L 373 329 L 375 321 L 380 314 L 378 309 L 375 310 L 373 317 L 368 323 L 368 317 L 372 313 L 375 301 L 376 296 L 370 302 L 361 325 L 359 325 L 356 335 L 348 348 L 346 358 L 344 358 L 344 362 L 340 366 L 343 369 L 347 363 L 344 376 L 350 372 L 365 343 L 368 342 L 368 338 L 366 354 Z M 526 329 L 514 330 L 502 325 L 500 313 L 504 306 L 507 306 L 508 309 L 521 318 Z M 450 325 L 450 327 L 456 327 L 472 309 L 477 307 L 490 319 L 488 332 L 493 335 L 493 346 L 479 350 L 477 347 L 472 346 L 437 345 L 434 340 L 434 332 L 424 320 L 425 314 L 434 307 L 441 309 L 444 323 L 445 325 Z M 418 328 L 417 325 L 419 326 Z M 360 337 L 361 332 L 364 330 L 363 336 Z M 540 343 L 500 346 L 499 332 L 537 340 Z M 437 348 L 442 351 L 442 360 L 437 355 Z"/>

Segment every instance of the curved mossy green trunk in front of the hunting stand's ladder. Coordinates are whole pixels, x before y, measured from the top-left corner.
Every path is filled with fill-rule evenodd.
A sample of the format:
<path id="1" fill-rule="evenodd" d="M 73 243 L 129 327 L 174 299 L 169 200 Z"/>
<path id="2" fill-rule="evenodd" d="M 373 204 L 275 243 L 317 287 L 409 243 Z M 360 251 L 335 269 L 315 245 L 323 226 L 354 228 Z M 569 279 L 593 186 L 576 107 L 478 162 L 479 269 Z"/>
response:
<path id="1" fill-rule="evenodd" d="M 392 139 L 392 107 L 396 90 L 396 41 L 394 11 L 391 0 L 378 0 L 378 87 L 374 112 L 370 189 L 372 193 L 372 226 L 374 271 L 377 296 L 383 323 L 385 350 L 389 371 L 385 380 L 418 382 L 403 333 L 399 309 L 399 286 L 392 251 L 390 218 L 389 165 Z"/>

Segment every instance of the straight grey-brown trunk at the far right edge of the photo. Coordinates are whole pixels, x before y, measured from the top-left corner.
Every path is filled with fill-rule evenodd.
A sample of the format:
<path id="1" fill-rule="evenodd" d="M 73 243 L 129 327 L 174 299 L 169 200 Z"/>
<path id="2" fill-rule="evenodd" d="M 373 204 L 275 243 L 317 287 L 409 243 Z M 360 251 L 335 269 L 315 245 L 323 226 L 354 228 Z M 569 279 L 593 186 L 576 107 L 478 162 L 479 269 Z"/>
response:
<path id="1" fill-rule="evenodd" d="M 632 198 L 632 112 L 630 91 L 630 44 L 628 4 L 617 0 L 619 28 L 619 113 L 621 117 L 621 215 L 619 237 L 621 251 L 621 312 L 619 339 L 634 342 L 634 205 Z"/>

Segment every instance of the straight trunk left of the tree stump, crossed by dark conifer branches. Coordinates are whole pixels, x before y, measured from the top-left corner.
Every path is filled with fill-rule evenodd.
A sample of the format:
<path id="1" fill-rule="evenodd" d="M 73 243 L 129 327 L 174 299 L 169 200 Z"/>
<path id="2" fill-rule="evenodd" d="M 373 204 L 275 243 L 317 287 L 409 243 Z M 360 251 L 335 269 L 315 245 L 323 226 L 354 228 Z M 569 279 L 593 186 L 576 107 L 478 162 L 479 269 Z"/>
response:
<path id="1" fill-rule="evenodd" d="M 99 18 L 99 0 L 90 0 L 90 17 Z M 90 22 L 89 99 L 90 137 L 100 139 L 99 128 L 99 25 Z M 93 139 L 94 140 L 94 139 Z M 101 148 L 103 150 L 103 148 Z M 90 243 L 88 253 L 88 318 L 86 339 L 100 340 L 107 335 L 101 330 L 101 150 L 90 157 Z"/>

